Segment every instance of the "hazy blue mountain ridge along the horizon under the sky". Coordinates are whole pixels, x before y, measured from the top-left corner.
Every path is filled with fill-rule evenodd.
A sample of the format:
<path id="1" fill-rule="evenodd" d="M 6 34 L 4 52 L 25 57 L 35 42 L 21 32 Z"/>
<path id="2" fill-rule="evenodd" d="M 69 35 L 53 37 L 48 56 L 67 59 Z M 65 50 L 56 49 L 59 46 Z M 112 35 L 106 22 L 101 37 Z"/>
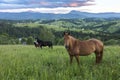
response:
<path id="1" fill-rule="evenodd" d="M 27 20 L 27 19 L 72 19 L 72 18 L 120 18 L 120 13 L 88 13 L 71 11 L 67 14 L 52 14 L 52 13 L 38 13 L 38 12 L 21 12 L 8 13 L 0 12 L 0 19 L 8 20 Z"/>

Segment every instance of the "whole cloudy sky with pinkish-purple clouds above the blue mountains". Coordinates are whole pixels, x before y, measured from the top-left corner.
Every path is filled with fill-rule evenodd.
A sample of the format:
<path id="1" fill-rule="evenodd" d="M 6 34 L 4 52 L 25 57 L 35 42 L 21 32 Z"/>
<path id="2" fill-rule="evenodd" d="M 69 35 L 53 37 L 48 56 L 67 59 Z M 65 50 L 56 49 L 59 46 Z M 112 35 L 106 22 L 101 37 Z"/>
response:
<path id="1" fill-rule="evenodd" d="M 0 0 L 0 12 L 119 12 L 120 0 Z"/>

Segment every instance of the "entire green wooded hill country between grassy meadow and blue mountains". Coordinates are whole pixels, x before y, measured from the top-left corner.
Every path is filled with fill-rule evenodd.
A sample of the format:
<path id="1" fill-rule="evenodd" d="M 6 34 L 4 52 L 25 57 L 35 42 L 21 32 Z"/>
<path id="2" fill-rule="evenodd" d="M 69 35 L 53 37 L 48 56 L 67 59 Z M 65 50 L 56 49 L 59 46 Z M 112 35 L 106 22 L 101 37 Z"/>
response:
<path id="1" fill-rule="evenodd" d="M 120 44 L 120 18 L 0 20 L 0 44 L 31 45 L 39 37 L 63 45 L 64 31 L 80 40 L 97 38 L 105 45 Z"/>

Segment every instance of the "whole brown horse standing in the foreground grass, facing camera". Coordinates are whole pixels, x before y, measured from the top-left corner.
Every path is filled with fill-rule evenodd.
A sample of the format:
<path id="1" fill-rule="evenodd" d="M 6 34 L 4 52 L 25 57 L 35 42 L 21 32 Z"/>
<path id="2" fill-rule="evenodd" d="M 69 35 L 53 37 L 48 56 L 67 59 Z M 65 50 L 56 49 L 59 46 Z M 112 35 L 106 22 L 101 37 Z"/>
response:
<path id="1" fill-rule="evenodd" d="M 103 56 L 104 45 L 100 40 L 89 39 L 80 41 L 69 33 L 64 32 L 64 45 L 70 56 L 70 63 L 72 63 L 73 56 L 79 64 L 79 56 L 87 56 L 91 53 L 96 55 L 96 63 L 100 63 Z"/>

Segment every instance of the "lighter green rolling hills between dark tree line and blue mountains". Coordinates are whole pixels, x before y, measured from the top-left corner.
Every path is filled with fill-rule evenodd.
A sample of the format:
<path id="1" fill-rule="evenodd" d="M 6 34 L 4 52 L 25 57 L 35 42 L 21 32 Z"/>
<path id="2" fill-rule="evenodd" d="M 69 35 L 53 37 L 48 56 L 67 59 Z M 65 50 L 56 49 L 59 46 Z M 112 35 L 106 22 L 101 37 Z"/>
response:
<path id="1" fill-rule="evenodd" d="M 79 31 L 93 31 L 106 33 L 119 33 L 120 19 L 118 18 L 84 18 L 84 19 L 59 19 L 59 20 L 38 20 L 35 23 L 46 25 L 48 28 L 59 30 L 70 29 Z M 52 26 L 52 27 L 51 27 Z"/>

